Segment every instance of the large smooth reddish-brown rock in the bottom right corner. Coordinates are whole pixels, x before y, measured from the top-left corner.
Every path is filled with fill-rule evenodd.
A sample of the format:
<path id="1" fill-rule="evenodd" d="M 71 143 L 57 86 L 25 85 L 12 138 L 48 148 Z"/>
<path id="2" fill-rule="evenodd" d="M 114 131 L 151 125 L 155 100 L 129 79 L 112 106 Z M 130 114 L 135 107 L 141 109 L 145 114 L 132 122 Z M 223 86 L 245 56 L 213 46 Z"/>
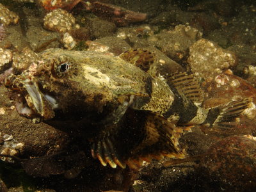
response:
<path id="1" fill-rule="evenodd" d="M 204 166 L 222 189 L 253 191 L 256 188 L 256 141 L 252 136 L 233 136 L 218 141 L 202 158 Z M 232 190 L 232 191 L 233 191 Z"/>

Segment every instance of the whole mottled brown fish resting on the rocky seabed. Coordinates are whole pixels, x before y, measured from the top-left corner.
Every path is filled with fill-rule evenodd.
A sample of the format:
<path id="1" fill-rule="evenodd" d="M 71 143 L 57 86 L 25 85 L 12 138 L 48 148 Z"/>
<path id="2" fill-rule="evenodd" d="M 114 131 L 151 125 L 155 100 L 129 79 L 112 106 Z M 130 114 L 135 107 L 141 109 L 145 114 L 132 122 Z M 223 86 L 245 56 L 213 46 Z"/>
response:
<path id="1" fill-rule="evenodd" d="M 227 129 L 250 106 L 250 99 L 241 99 L 202 108 L 204 93 L 193 74 L 153 76 L 154 62 L 154 53 L 144 49 L 120 56 L 47 49 L 4 85 L 20 115 L 77 131 L 103 166 L 134 170 L 143 161 L 184 158 L 179 126 Z"/>

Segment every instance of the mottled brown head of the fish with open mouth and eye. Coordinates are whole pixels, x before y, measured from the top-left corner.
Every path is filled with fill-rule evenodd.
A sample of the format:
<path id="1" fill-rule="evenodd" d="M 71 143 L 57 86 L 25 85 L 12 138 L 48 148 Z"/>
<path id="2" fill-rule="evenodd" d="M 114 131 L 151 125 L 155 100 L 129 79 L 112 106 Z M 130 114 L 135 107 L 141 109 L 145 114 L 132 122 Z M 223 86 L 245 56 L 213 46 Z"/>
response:
<path id="1" fill-rule="evenodd" d="M 96 70 L 85 60 L 76 60 L 76 52 L 67 54 L 61 49 L 52 49 L 43 52 L 39 60 L 21 74 L 6 77 L 4 84 L 16 102 L 17 111 L 28 118 L 99 116 L 113 98 L 105 86 L 99 88 L 102 79 L 92 80 Z"/>

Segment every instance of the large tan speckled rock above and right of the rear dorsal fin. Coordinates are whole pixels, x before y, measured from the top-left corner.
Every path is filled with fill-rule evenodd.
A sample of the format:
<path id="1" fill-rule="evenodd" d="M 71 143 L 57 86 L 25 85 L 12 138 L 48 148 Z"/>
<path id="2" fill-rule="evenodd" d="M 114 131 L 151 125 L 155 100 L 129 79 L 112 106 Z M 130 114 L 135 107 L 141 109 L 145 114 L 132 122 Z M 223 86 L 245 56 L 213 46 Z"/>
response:
<path id="1" fill-rule="evenodd" d="M 205 78 L 234 67 L 237 58 L 233 52 L 202 38 L 189 47 L 188 63 L 196 76 Z"/>

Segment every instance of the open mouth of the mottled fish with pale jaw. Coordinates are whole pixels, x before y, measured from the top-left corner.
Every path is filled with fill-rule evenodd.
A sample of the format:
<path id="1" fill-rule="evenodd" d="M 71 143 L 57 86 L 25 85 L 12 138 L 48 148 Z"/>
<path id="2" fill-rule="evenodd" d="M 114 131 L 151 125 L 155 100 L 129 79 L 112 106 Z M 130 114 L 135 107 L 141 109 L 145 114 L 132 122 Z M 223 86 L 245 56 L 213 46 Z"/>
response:
<path id="1" fill-rule="evenodd" d="M 45 92 L 40 84 L 26 79 L 22 81 L 24 90 L 16 97 L 16 109 L 20 115 L 28 118 L 40 117 L 43 120 L 54 118 L 58 103 L 52 94 Z"/>

